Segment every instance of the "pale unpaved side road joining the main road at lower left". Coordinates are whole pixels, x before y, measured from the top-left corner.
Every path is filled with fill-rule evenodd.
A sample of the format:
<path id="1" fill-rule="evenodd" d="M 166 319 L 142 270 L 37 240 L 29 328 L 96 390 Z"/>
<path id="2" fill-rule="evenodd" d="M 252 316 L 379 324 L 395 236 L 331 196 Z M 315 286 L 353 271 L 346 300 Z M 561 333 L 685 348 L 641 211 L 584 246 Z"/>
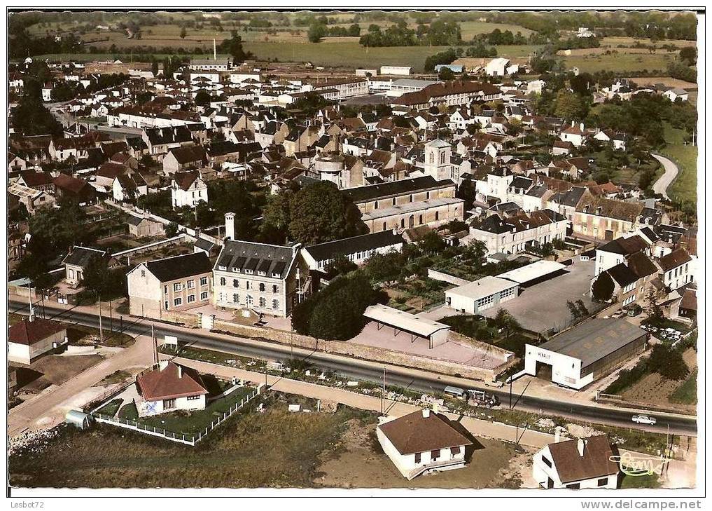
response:
<path id="1" fill-rule="evenodd" d="M 8 434 L 13 436 L 25 428 L 48 428 L 60 423 L 65 413 L 61 409 L 62 403 L 119 369 L 145 367 L 150 365 L 151 361 L 151 339 L 139 337 L 128 348 L 79 373 L 62 385 L 12 408 L 7 417 Z"/>

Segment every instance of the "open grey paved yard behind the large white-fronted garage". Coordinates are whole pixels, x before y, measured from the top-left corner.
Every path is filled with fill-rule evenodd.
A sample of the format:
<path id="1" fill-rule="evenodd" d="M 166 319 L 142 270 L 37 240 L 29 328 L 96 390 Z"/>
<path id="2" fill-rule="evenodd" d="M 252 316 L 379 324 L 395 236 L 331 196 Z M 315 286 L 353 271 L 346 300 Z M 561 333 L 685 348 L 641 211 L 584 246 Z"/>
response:
<path id="1" fill-rule="evenodd" d="M 523 289 L 517 298 L 488 309 L 483 316 L 493 318 L 501 307 L 512 314 L 523 329 L 538 333 L 565 329 L 572 319 L 567 301 L 581 300 L 590 311 L 595 309 L 590 296 L 594 269 L 594 261 L 574 259 L 567 273 Z"/>

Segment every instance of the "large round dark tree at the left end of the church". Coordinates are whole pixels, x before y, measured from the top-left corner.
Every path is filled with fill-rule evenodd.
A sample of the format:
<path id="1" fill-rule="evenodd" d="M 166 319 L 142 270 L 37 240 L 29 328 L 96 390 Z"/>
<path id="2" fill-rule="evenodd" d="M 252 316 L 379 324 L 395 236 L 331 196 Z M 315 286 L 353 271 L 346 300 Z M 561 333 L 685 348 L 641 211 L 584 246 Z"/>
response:
<path id="1" fill-rule="evenodd" d="M 358 207 L 329 181 L 315 182 L 291 195 L 289 217 L 290 236 L 308 245 L 367 232 Z"/>

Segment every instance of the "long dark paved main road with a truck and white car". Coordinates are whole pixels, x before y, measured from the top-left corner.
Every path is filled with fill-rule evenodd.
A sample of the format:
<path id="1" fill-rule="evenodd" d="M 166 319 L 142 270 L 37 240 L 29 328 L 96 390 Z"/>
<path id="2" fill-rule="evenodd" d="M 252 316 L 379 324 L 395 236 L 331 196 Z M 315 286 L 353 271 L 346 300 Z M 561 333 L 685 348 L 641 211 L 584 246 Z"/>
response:
<path id="1" fill-rule="evenodd" d="M 98 316 L 78 311 L 67 311 L 61 307 L 46 305 L 48 317 L 50 314 L 57 314 L 55 319 L 62 321 L 72 321 L 88 326 L 98 326 Z M 11 301 L 9 304 L 13 311 L 27 312 L 27 304 L 19 301 Z M 133 319 L 132 322 L 124 322 L 124 330 L 132 335 L 146 335 L 150 333 L 150 322 L 142 319 Z M 268 341 L 256 341 L 253 339 L 243 339 L 234 336 L 214 334 L 198 329 L 182 329 L 169 326 L 167 324 L 155 323 L 155 334 L 158 337 L 177 335 L 181 343 L 189 344 L 197 348 L 215 349 L 236 353 L 240 356 L 251 358 L 261 358 L 263 360 L 287 361 L 290 358 L 308 358 L 315 366 L 325 368 L 348 378 L 365 381 L 380 382 L 382 380 L 382 363 L 360 360 L 346 356 L 335 355 L 333 353 L 323 353 L 321 351 L 310 351 L 306 349 L 291 348 L 290 346 Z M 493 389 L 484 387 L 481 382 L 447 376 L 438 373 L 430 373 L 412 368 L 400 366 L 387 366 L 387 383 L 390 385 L 402 386 L 419 392 L 441 392 L 445 386 L 459 386 L 461 388 L 485 388 L 487 391 L 495 393 L 503 406 L 508 406 L 510 396 L 508 389 Z M 696 435 L 696 418 L 686 415 L 676 415 L 667 413 L 655 413 L 658 422 L 655 426 L 643 426 L 632 423 L 631 417 L 636 410 L 626 410 L 621 408 L 607 408 L 603 406 L 591 406 L 576 402 L 554 401 L 537 396 L 523 395 L 513 396 L 512 402 L 515 408 L 552 415 L 559 415 L 566 418 L 590 421 L 608 425 L 624 426 L 627 428 L 637 428 L 649 431 L 664 433 L 668 425 L 670 432 L 674 434 Z"/>

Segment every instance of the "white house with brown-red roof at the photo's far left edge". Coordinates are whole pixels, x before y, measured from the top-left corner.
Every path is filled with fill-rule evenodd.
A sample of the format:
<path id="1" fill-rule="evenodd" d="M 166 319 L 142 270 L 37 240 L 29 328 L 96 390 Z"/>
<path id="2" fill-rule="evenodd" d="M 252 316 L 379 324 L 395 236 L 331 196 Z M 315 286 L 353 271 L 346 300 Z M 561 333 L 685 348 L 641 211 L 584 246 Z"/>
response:
<path id="1" fill-rule="evenodd" d="M 30 316 L 10 327 L 7 358 L 11 362 L 29 364 L 66 341 L 66 326 Z"/>

